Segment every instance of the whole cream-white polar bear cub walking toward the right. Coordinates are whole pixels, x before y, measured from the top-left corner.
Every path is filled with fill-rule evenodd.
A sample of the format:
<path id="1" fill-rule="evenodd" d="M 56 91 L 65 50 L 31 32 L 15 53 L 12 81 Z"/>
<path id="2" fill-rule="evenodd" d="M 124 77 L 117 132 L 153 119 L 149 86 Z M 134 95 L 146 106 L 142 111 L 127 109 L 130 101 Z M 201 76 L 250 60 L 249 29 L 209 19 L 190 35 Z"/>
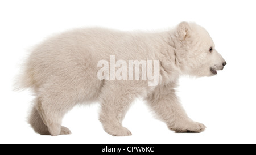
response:
<path id="1" fill-rule="evenodd" d="M 117 74 L 125 64 L 129 67 Z M 174 88 L 181 75 L 213 76 L 225 65 L 208 32 L 195 23 L 182 22 L 162 32 L 81 28 L 36 46 L 24 65 L 20 87 L 35 94 L 29 123 L 42 135 L 71 134 L 61 126 L 65 113 L 77 104 L 98 102 L 104 130 L 129 136 L 122 120 L 137 97 L 146 100 L 170 130 L 202 132 L 204 124 L 187 116 Z M 113 70 L 121 79 L 113 77 Z M 154 79 L 144 76 L 150 71 Z"/>

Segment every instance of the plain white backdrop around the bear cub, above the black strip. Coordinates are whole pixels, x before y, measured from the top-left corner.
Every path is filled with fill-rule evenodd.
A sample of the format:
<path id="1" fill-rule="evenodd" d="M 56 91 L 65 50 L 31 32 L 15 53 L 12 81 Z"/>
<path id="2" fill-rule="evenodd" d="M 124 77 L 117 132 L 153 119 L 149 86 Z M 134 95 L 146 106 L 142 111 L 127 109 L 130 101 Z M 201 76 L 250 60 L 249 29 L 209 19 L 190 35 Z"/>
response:
<path id="1" fill-rule="evenodd" d="M 0 1 L 0 143 L 256 143 L 255 1 Z M 98 104 L 76 107 L 65 136 L 35 134 L 26 123 L 31 92 L 13 92 L 27 51 L 54 33 L 86 26 L 121 30 L 170 28 L 195 21 L 228 63 L 212 78 L 180 79 L 179 96 L 201 134 L 175 134 L 138 100 L 123 121 L 133 136 L 113 137 L 98 121 Z"/>

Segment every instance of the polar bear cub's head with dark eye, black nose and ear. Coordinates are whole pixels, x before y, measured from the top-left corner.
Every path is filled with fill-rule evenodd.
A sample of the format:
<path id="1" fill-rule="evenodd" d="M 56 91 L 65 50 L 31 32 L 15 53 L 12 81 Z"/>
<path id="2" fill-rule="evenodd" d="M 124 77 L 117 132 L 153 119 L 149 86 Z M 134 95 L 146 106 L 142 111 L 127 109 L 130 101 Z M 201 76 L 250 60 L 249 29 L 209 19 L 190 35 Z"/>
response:
<path id="1" fill-rule="evenodd" d="M 209 33 L 195 23 L 180 23 L 175 32 L 175 49 L 181 71 L 192 76 L 213 76 L 226 61 L 215 49 Z M 174 38 L 172 38 L 174 40 Z"/>

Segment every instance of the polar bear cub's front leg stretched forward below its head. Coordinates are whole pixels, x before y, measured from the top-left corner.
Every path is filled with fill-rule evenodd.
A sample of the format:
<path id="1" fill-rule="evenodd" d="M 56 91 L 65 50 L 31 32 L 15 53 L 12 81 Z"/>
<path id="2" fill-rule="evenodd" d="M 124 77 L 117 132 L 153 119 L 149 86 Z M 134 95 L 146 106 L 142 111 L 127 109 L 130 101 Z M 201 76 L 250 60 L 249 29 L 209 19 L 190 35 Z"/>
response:
<path id="1" fill-rule="evenodd" d="M 159 85 L 147 96 L 147 103 L 165 122 L 170 130 L 175 132 L 203 132 L 204 124 L 194 122 L 185 113 L 174 90 L 175 84 Z"/>

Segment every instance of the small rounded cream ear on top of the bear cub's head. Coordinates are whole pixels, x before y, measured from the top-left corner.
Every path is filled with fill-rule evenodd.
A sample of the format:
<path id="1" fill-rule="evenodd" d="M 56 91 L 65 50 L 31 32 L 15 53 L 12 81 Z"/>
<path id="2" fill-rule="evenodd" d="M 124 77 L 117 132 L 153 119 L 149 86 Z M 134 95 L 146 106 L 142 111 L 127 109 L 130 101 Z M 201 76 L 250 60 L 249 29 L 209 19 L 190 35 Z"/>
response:
<path id="1" fill-rule="evenodd" d="M 177 37 L 180 41 L 184 41 L 189 37 L 191 33 L 191 27 L 188 22 L 181 22 L 177 27 Z"/>

